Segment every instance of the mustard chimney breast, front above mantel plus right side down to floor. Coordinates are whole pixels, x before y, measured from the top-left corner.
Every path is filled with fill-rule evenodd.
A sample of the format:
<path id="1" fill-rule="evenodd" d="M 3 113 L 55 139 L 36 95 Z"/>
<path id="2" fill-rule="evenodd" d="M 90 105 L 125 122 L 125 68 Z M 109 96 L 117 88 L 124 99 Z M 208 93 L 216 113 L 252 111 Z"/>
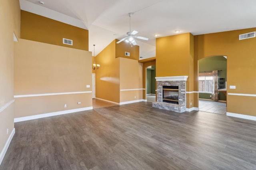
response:
<path id="1" fill-rule="evenodd" d="M 186 91 L 194 91 L 194 36 L 156 38 L 156 68 L 156 77 L 187 75 Z M 187 93 L 186 98 L 186 107 L 194 107 L 194 93 Z"/>

